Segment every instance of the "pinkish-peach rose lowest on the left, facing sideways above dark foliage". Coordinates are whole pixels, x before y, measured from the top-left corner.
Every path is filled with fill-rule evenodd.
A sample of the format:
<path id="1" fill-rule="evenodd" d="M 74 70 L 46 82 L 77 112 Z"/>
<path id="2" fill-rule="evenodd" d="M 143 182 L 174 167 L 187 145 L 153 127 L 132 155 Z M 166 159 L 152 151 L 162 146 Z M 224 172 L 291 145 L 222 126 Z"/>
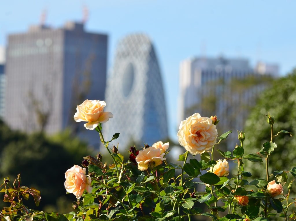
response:
<path id="1" fill-rule="evenodd" d="M 65 188 L 68 193 L 73 193 L 77 199 L 79 199 L 83 191 L 86 189 L 88 193 L 91 193 L 91 178 L 85 176 L 85 168 L 74 165 L 65 173 Z"/>

